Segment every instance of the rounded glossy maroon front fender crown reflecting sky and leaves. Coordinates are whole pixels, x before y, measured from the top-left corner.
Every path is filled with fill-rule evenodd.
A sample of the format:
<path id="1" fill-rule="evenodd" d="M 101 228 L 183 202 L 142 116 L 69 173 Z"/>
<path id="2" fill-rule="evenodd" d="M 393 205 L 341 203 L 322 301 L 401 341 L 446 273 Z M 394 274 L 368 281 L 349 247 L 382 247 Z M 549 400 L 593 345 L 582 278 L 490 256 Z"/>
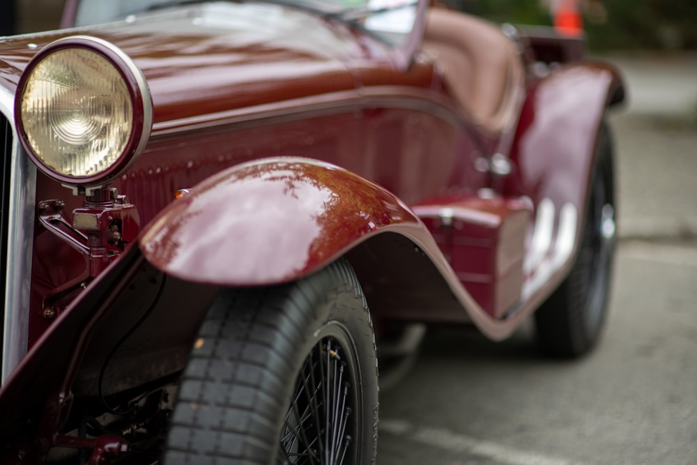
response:
<path id="1" fill-rule="evenodd" d="M 397 197 L 306 158 L 266 158 L 208 178 L 141 236 L 146 259 L 182 280 L 224 286 L 296 280 L 385 229 L 422 229 Z"/>

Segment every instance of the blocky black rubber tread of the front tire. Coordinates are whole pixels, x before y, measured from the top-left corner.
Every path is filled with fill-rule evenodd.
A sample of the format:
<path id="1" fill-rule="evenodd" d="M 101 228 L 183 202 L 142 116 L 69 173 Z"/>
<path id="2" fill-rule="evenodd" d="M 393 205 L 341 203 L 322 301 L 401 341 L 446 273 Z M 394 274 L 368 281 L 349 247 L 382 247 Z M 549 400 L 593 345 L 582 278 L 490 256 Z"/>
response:
<path id="1" fill-rule="evenodd" d="M 360 284 L 345 261 L 302 284 L 221 291 L 183 372 L 166 464 L 270 463 L 278 447 L 277 412 L 284 409 L 278 393 L 284 380 L 294 378 L 293 347 L 318 318 L 318 301 L 351 289 L 369 321 Z M 374 337 L 372 344 L 374 353 Z"/>

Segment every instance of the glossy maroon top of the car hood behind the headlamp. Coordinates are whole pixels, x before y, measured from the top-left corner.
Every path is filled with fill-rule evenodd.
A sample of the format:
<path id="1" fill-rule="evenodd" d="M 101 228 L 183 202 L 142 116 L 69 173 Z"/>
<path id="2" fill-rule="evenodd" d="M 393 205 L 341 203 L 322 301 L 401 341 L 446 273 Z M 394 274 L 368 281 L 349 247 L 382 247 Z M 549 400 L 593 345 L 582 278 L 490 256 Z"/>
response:
<path id="1" fill-rule="evenodd" d="M 108 40 L 143 71 L 155 123 L 353 90 L 367 47 L 346 26 L 266 3 L 210 3 L 123 22 L 0 40 L 0 86 L 57 38 Z"/>

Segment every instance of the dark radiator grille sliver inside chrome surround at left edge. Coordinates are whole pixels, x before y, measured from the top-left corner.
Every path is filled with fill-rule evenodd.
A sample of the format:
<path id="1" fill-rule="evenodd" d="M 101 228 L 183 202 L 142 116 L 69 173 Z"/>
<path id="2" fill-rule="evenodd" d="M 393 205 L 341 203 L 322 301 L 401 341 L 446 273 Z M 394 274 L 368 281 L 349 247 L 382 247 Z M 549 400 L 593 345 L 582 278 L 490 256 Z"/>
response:
<path id="1" fill-rule="evenodd" d="M 12 158 L 12 127 L 0 113 L 0 303 L 5 302 L 7 278 L 7 236 L 10 206 L 10 160 Z M 4 307 L 4 305 L 3 305 Z M 3 315 L 0 314 L 0 351 L 3 338 Z"/>

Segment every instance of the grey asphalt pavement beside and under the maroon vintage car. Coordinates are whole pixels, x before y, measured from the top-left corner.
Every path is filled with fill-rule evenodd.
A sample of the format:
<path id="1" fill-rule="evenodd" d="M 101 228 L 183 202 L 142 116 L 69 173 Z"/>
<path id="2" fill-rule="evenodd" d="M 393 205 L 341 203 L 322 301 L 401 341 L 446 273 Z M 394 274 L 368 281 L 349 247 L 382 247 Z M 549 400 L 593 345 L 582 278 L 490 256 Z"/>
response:
<path id="1" fill-rule="evenodd" d="M 548 360 L 431 330 L 381 393 L 379 465 L 697 464 L 697 55 L 610 56 L 632 104 L 611 123 L 620 247 L 602 344 Z"/>

